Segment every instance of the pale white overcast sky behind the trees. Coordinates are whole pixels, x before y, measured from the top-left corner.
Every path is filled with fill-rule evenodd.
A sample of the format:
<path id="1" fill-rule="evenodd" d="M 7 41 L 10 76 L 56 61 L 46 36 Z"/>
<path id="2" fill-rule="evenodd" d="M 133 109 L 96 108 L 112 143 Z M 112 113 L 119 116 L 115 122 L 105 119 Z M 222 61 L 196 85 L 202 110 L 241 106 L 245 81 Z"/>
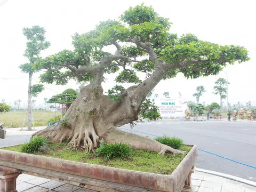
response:
<path id="1" fill-rule="evenodd" d="M 0 4 L 3 0 L 0 0 Z M 4 0 L 5 1 L 5 0 Z M 49 49 L 41 56 L 58 53 L 64 49 L 73 50 L 71 36 L 86 33 L 95 28 L 100 21 L 118 19 L 129 6 L 141 3 L 152 5 L 155 11 L 173 23 L 170 33 L 191 33 L 203 41 L 220 45 L 241 45 L 249 51 L 250 61 L 225 67 L 219 75 L 186 79 L 179 74 L 173 79 L 161 81 L 155 87 L 155 93 L 162 95 L 170 92 L 171 98 L 181 97 L 187 101 L 196 101 L 193 93 L 199 85 L 206 92 L 200 102 L 218 102 L 219 95 L 213 94 L 214 82 L 218 78 L 228 78 L 228 101 L 233 105 L 238 101 L 248 101 L 256 106 L 256 27 L 254 1 L 82 1 L 82 0 L 8 0 L 0 5 L 0 102 L 13 105 L 14 100 L 27 102 L 28 74 L 22 73 L 19 65 L 26 63 L 23 57 L 26 38 L 23 27 L 39 25 L 46 30 L 46 40 L 51 42 Z M 40 73 L 33 76 L 33 84 L 39 82 Z M 143 77 L 143 76 L 142 76 Z M 106 76 L 103 84 L 105 92 L 115 85 L 115 75 Z M 45 90 L 35 99 L 36 105 L 43 106 L 44 98 L 61 93 L 68 88 L 77 89 L 78 84 L 70 81 L 65 86 L 44 84 Z M 127 86 L 127 85 L 126 85 Z M 224 105 L 227 100 L 224 100 Z"/>

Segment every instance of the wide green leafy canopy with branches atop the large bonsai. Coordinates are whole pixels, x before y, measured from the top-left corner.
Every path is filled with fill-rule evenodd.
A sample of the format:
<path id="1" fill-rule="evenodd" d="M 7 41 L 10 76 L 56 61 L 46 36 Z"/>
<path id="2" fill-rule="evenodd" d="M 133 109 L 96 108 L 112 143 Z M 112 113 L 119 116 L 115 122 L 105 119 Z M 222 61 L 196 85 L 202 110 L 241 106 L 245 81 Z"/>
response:
<path id="1" fill-rule="evenodd" d="M 170 33 L 171 25 L 151 6 L 130 7 L 119 20 L 102 21 L 87 33 L 76 33 L 73 51 L 63 50 L 39 60 L 37 66 L 46 69 L 41 81 L 64 85 L 75 79 L 100 85 L 105 73 L 118 71 L 117 83 L 139 85 L 146 98 L 161 79 L 178 73 L 187 78 L 216 75 L 228 63 L 249 60 L 242 46 L 222 46 L 193 34 L 178 36 Z M 115 53 L 107 51 L 111 46 L 116 47 Z M 147 79 L 142 82 L 138 72 L 145 73 Z"/>

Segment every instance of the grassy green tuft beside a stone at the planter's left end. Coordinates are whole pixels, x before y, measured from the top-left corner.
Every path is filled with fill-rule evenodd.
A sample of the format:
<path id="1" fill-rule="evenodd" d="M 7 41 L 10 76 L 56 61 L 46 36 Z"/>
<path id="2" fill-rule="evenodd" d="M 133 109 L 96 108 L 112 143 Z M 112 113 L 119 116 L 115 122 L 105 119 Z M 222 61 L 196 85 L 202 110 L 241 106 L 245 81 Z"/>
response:
<path id="1" fill-rule="evenodd" d="M 21 152 L 22 153 L 38 153 L 39 148 L 47 143 L 49 143 L 47 139 L 44 139 L 42 137 L 35 137 L 31 139 L 29 142 L 26 142 L 21 145 Z"/>

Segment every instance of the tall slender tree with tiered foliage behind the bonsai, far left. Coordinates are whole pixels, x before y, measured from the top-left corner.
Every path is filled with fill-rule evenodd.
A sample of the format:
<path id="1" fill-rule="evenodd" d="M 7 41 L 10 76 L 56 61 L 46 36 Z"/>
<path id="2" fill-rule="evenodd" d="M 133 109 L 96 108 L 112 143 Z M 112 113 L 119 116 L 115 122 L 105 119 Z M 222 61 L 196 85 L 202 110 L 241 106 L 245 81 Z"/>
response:
<path id="1" fill-rule="evenodd" d="M 32 85 L 33 74 L 39 71 L 40 66 L 36 65 L 36 61 L 41 51 L 50 46 L 50 42 L 45 41 L 45 30 L 43 27 L 33 26 L 31 28 L 23 28 L 23 34 L 27 38 L 27 48 L 23 54 L 28 58 L 29 62 L 20 65 L 23 73 L 28 73 L 28 130 L 31 131 L 31 98 L 36 97 L 38 93 L 43 91 L 43 86 L 40 84 Z"/>

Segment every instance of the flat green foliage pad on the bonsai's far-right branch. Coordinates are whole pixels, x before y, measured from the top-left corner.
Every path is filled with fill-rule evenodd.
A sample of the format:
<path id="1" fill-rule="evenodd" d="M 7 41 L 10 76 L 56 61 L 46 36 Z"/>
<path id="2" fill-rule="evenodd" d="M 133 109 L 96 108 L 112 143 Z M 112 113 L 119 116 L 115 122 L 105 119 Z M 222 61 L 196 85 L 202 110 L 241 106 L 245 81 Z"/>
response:
<path id="1" fill-rule="evenodd" d="M 174 46 L 166 46 L 160 55 L 167 63 L 182 62 L 185 58 L 191 61 L 189 67 L 179 69 L 187 78 L 217 75 L 227 63 L 234 65 L 235 61 L 241 63 L 250 59 L 247 57 L 247 50 L 241 46 L 220 46 L 203 41 L 186 44 L 184 38 L 186 37 L 183 36 L 183 40 Z M 194 62 L 198 58 L 200 61 Z"/>

